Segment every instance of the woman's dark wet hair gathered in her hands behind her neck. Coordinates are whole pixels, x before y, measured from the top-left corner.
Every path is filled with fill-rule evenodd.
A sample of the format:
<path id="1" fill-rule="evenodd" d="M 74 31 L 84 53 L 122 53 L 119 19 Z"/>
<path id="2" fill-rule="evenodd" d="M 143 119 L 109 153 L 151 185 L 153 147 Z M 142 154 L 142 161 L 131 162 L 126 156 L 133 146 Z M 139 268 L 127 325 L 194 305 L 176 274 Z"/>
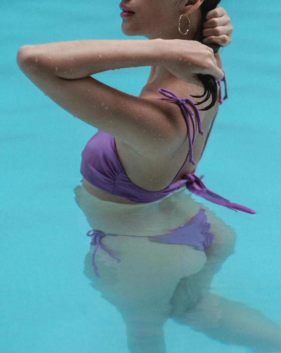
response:
<path id="1" fill-rule="evenodd" d="M 205 44 L 203 43 L 203 39 L 205 38 L 203 35 L 203 30 L 204 30 L 204 22 L 206 21 L 206 15 L 209 11 L 213 10 L 214 8 L 216 8 L 216 6 L 219 4 L 220 0 L 204 0 L 200 6 L 201 9 L 201 24 L 200 27 L 198 29 L 200 38 L 198 39 L 198 41 L 204 45 L 207 45 L 208 47 L 210 47 L 214 54 L 218 52 L 220 45 L 218 44 Z M 199 110 L 209 110 L 211 109 L 217 100 L 217 85 L 216 85 L 216 81 L 215 78 L 211 75 L 203 75 L 203 74 L 198 74 L 198 78 L 200 79 L 200 81 L 203 83 L 204 86 L 204 93 L 202 96 L 192 96 L 194 98 L 202 98 L 205 95 L 207 95 L 204 100 L 202 100 L 199 103 L 195 103 L 195 105 L 198 104 L 202 104 L 204 102 L 206 102 L 210 96 L 212 96 L 212 100 L 211 100 L 211 104 L 204 108 L 204 109 L 199 109 Z"/>

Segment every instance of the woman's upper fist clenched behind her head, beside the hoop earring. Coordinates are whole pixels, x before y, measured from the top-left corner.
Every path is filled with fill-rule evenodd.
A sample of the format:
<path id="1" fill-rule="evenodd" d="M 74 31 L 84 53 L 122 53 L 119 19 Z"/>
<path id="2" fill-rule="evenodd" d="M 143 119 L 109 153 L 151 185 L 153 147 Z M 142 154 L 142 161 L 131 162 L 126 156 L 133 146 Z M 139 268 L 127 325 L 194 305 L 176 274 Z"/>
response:
<path id="1" fill-rule="evenodd" d="M 233 27 L 230 24 L 230 17 L 225 9 L 221 6 L 216 6 L 215 9 L 209 11 L 206 15 L 203 31 L 204 44 L 219 44 L 226 47 L 231 43 L 231 33 Z"/>

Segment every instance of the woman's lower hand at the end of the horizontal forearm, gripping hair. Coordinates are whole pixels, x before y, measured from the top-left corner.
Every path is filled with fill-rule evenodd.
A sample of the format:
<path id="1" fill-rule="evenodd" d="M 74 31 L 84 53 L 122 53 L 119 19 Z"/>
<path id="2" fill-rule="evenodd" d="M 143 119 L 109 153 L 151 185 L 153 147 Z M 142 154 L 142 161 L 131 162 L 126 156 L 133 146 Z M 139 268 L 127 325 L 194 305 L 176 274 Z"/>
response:
<path id="1" fill-rule="evenodd" d="M 159 41 L 159 39 L 156 39 Z M 162 53 L 159 65 L 180 80 L 198 85 L 197 74 L 211 75 L 215 80 L 224 77 L 218 68 L 213 50 L 196 40 L 160 39 Z"/>

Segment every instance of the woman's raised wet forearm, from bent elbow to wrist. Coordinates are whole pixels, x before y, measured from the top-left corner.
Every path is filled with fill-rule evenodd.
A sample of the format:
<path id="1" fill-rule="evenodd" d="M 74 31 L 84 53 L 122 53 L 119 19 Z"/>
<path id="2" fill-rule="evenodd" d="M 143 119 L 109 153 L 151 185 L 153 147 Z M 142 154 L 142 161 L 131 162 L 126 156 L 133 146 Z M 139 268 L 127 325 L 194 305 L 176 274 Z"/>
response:
<path id="1" fill-rule="evenodd" d="M 165 55 L 162 49 L 163 41 L 159 39 L 74 40 L 24 45 L 18 58 L 34 70 L 44 69 L 61 78 L 77 79 L 118 68 L 159 66 Z"/>

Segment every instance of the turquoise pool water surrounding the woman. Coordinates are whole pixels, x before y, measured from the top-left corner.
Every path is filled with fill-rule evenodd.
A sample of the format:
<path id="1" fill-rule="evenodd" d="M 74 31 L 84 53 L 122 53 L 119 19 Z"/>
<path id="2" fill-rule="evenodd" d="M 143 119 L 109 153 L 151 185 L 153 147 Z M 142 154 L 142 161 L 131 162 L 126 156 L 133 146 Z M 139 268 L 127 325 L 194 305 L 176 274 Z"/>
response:
<path id="1" fill-rule="evenodd" d="M 81 151 L 96 129 L 44 96 L 16 64 L 24 44 L 141 39 L 121 32 L 119 2 L 13 0 L 0 8 L 4 353 L 129 352 L 120 313 L 83 276 L 89 225 L 72 190 L 81 179 Z M 198 175 L 205 175 L 213 192 L 257 214 L 208 204 L 237 233 L 235 255 L 215 275 L 214 285 L 223 296 L 281 323 L 281 5 L 279 0 L 220 5 L 234 27 L 231 45 L 220 49 L 229 99 L 219 109 Z M 148 74 L 149 67 L 138 67 L 95 78 L 138 96 Z M 172 320 L 164 330 L 168 353 L 248 352 Z"/>

